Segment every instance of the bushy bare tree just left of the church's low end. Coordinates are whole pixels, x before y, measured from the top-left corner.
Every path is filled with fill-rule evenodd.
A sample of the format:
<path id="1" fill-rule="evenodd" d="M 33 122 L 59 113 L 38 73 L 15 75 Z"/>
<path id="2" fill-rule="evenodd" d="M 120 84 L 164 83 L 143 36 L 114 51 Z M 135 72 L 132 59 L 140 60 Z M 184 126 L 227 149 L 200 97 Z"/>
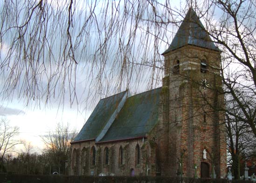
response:
<path id="1" fill-rule="evenodd" d="M 48 154 L 51 166 L 55 166 L 59 173 L 65 173 L 65 162 L 69 159 L 70 142 L 74 139 L 76 131 L 71 131 L 69 124 L 58 123 L 55 131 L 42 136 L 46 145 L 45 153 Z"/>

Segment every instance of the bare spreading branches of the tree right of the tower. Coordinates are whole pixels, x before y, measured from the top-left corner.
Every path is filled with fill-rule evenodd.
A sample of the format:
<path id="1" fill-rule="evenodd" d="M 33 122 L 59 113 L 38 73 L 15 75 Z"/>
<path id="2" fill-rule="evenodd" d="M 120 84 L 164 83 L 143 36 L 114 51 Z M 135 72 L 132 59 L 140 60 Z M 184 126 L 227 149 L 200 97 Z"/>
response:
<path id="1" fill-rule="evenodd" d="M 234 100 L 240 111 L 226 112 L 249 125 L 256 137 L 256 4 L 251 0 L 212 3 L 221 17 L 216 23 L 210 18 L 206 22 L 222 51 L 222 82 L 229 95 L 226 99 Z"/>

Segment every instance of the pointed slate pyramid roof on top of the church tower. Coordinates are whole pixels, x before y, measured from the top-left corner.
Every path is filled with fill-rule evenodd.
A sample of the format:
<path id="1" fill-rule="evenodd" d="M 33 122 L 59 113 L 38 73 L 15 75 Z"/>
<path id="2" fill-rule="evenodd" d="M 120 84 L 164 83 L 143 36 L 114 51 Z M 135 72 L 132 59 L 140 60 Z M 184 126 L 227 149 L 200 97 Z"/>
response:
<path id="1" fill-rule="evenodd" d="M 194 45 L 220 51 L 215 46 L 193 8 L 188 10 L 185 19 L 181 23 L 173 38 L 171 45 L 165 52 L 162 53 L 162 55 L 185 45 Z"/>

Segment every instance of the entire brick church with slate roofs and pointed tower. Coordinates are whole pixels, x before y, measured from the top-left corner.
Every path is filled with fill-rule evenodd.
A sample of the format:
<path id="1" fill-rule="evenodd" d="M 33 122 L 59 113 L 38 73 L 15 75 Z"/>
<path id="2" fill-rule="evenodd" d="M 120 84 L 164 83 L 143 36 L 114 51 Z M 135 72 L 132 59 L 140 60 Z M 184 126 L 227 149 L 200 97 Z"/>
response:
<path id="1" fill-rule="evenodd" d="M 101 99 L 71 142 L 71 175 L 226 175 L 221 51 L 190 8 L 162 53 L 162 87 Z"/>

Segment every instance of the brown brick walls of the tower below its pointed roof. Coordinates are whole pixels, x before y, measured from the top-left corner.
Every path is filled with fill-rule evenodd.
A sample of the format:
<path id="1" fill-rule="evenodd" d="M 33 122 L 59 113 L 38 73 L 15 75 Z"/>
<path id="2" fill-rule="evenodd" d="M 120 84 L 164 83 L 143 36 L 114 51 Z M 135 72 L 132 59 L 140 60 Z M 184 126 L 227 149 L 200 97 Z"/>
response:
<path id="1" fill-rule="evenodd" d="M 202 59 L 207 60 L 206 73 L 201 72 Z M 179 74 L 172 72 L 176 60 L 180 62 Z M 169 71 L 169 118 L 162 123 L 169 123 L 166 125 L 169 126 L 169 134 L 165 135 L 169 137 L 169 168 L 163 174 L 173 176 L 182 160 L 183 176 L 193 177 L 196 165 L 196 176 L 200 177 L 201 163 L 207 163 L 210 175 L 215 170 L 217 177 L 224 177 L 226 138 L 224 114 L 220 111 L 224 107 L 224 98 L 220 95 L 219 52 L 184 46 L 166 54 L 165 62 L 170 65 L 165 69 Z M 203 78 L 209 82 L 207 89 L 201 87 Z M 207 159 L 203 159 L 204 149 L 207 150 Z M 162 150 L 165 151 L 164 148 Z"/>

